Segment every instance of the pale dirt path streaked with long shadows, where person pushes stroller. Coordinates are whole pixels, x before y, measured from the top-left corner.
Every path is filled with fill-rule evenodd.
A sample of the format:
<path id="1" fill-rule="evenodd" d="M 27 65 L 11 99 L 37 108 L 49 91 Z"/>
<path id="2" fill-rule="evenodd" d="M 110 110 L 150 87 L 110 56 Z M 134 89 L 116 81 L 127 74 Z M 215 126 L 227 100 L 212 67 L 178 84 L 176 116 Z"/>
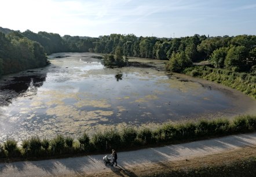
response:
<path id="1" fill-rule="evenodd" d="M 42 161 L 21 161 L 1 163 L 0 176 L 136 176 L 135 168 L 144 168 L 153 164 L 188 160 L 229 152 L 256 145 L 256 132 L 253 134 L 232 135 L 180 145 L 160 148 L 148 148 L 131 152 L 118 153 L 118 167 L 105 166 L 104 155 L 63 158 Z M 123 174 L 119 172 L 123 171 Z"/>

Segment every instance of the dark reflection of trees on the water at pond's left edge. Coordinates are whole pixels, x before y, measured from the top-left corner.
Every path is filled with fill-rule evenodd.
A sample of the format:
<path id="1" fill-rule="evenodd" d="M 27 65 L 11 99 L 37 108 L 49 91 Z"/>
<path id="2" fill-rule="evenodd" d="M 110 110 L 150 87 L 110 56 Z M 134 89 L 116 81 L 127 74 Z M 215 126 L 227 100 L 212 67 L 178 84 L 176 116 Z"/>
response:
<path id="1" fill-rule="evenodd" d="M 23 76 L 13 76 L 12 79 L 0 83 L 0 106 L 9 105 L 12 99 L 31 91 L 36 94 L 37 88 L 43 85 L 46 73 L 30 73 Z"/>

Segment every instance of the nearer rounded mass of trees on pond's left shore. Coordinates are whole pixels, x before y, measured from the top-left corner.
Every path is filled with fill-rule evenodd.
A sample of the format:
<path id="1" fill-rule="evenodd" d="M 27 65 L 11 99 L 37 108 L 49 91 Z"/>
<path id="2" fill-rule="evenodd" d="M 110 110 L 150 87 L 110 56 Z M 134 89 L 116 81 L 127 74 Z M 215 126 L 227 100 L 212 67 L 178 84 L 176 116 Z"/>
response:
<path id="1" fill-rule="evenodd" d="M 19 32 L 0 32 L 0 76 L 48 64 L 45 49 Z"/>

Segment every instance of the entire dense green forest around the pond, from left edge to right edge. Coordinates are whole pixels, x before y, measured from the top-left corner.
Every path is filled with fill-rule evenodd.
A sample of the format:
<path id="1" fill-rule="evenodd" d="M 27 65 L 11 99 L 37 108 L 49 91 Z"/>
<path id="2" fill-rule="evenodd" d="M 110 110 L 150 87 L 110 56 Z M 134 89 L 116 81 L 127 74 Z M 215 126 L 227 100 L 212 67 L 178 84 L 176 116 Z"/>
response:
<path id="1" fill-rule="evenodd" d="M 45 54 L 63 51 L 115 54 L 170 60 L 167 70 L 182 72 L 193 62 L 209 60 L 214 68 L 255 72 L 256 36 L 187 36 L 184 38 L 137 37 L 111 34 L 98 38 L 20 32 L 0 28 L 0 75 L 47 64 Z M 5 33 L 5 34 L 4 34 Z"/>

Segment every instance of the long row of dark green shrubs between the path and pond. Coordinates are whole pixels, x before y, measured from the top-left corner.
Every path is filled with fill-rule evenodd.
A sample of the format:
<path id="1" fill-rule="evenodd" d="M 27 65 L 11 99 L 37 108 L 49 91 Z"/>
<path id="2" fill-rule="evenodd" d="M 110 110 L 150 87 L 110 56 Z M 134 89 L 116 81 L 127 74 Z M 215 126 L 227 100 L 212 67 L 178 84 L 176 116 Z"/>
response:
<path id="1" fill-rule="evenodd" d="M 200 120 L 180 124 L 165 124 L 156 130 L 133 127 L 123 130 L 96 132 L 89 137 L 86 133 L 77 140 L 57 135 L 53 139 L 31 137 L 21 146 L 14 139 L 0 144 L 0 158 L 5 160 L 25 160 L 75 156 L 79 154 L 109 153 L 111 149 L 133 150 L 150 146 L 182 143 L 256 131 L 256 116 L 239 116 L 233 120 Z"/>

